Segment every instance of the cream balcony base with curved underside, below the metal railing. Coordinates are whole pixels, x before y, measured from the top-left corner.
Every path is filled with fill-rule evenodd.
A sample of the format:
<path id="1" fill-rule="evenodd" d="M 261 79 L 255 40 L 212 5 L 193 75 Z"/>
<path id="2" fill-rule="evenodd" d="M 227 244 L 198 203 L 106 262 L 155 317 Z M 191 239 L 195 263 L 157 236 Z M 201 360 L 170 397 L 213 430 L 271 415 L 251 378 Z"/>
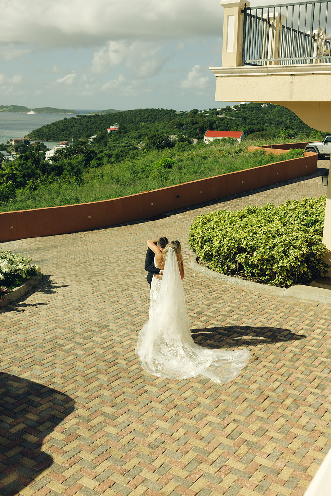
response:
<path id="1" fill-rule="evenodd" d="M 211 67 L 215 101 L 282 105 L 306 124 L 331 130 L 331 64 Z"/>

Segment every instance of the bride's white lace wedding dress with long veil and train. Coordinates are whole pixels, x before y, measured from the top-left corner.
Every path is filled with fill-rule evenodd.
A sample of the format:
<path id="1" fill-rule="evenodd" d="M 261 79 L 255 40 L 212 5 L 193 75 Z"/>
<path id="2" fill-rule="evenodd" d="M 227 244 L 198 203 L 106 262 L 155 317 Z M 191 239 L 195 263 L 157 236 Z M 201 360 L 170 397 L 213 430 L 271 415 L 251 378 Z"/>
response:
<path id="1" fill-rule="evenodd" d="M 157 282 L 156 282 L 157 281 Z M 209 350 L 191 335 L 177 256 L 169 248 L 162 280 L 153 277 L 149 319 L 138 335 L 136 354 L 143 370 L 158 377 L 208 377 L 225 384 L 248 364 L 247 349 Z"/>

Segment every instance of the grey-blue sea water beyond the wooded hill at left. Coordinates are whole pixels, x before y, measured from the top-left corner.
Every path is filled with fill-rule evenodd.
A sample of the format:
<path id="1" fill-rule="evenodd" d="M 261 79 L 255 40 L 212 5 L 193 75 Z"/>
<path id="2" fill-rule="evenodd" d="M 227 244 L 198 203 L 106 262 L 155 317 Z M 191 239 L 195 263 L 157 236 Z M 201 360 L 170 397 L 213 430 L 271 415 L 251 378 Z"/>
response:
<path id="1" fill-rule="evenodd" d="M 79 114 L 87 114 L 90 110 L 77 110 Z M 21 112 L 0 112 L 0 143 L 9 139 L 22 139 L 26 134 L 45 124 L 69 119 L 75 114 L 25 114 Z M 56 141 L 45 141 L 45 145 L 52 147 Z"/>

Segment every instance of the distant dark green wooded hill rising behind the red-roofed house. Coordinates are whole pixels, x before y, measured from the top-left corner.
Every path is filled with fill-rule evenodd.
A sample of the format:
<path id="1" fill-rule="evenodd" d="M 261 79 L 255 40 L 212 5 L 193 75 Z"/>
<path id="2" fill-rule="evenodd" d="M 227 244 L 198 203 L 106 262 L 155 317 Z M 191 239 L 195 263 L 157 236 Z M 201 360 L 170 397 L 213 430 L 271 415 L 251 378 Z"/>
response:
<path id="1" fill-rule="evenodd" d="M 106 112 L 103 114 L 103 112 Z M 102 111 L 94 115 L 78 114 L 76 117 L 47 124 L 31 131 L 28 139 L 68 140 L 88 139 L 94 134 L 106 133 L 112 124 L 120 124 L 120 133 L 111 133 L 107 145 L 126 148 L 136 146 L 151 132 L 168 135 L 182 133 L 202 139 L 206 130 L 244 131 L 254 139 L 272 139 L 282 129 L 288 137 L 299 133 L 310 134 L 312 129 L 293 112 L 280 105 L 262 107 L 259 103 L 229 106 L 220 110 L 176 112 L 168 109 L 135 109 L 117 113 Z M 256 133 L 259 133 L 258 135 Z M 261 134 L 262 133 L 262 134 Z M 110 133 L 108 133 L 110 134 Z M 102 135 L 103 138 L 105 134 Z"/>

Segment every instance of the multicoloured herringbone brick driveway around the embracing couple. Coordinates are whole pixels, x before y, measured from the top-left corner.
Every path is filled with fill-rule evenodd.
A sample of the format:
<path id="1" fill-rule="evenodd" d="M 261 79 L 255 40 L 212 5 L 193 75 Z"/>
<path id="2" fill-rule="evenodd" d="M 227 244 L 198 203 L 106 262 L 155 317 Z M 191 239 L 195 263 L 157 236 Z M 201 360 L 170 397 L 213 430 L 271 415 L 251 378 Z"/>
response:
<path id="1" fill-rule="evenodd" d="M 186 240 L 201 212 L 325 189 L 316 174 L 160 220 L 2 244 L 46 275 L 0 310 L 0 494 L 303 495 L 331 443 L 331 309 L 195 274 Z M 196 342 L 251 352 L 226 386 L 140 368 L 145 240 L 158 235 L 183 242 Z"/>

